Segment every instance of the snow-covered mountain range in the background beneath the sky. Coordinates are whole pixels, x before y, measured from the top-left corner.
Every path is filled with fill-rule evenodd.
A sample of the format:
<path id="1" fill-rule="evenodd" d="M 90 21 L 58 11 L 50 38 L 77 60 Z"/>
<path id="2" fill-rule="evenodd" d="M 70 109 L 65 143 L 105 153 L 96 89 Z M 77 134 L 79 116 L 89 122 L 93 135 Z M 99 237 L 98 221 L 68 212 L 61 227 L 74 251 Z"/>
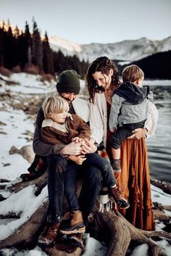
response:
<path id="1" fill-rule="evenodd" d="M 114 44 L 74 44 L 62 38 L 49 38 L 51 49 L 59 51 L 65 55 L 76 54 L 80 59 L 89 60 L 99 56 L 107 56 L 110 59 L 118 59 L 122 61 L 132 62 L 142 59 L 151 54 L 160 51 L 171 50 L 171 36 L 164 38 L 162 41 L 154 41 L 148 38 L 140 38 L 138 40 L 126 40 Z"/>

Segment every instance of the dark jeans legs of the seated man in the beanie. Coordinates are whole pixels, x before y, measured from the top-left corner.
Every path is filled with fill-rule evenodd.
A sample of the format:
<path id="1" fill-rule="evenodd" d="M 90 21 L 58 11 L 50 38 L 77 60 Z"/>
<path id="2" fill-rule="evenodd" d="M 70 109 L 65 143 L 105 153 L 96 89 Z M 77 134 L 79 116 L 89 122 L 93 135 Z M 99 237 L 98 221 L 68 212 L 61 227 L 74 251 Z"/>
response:
<path id="1" fill-rule="evenodd" d="M 67 172 L 68 161 L 61 155 L 47 157 L 48 159 L 48 191 L 49 208 L 48 220 L 59 223 L 63 213 L 64 176 Z M 89 213 L 93 210 L 96 199 L 101 189 L 101 172 L 93 165 L 76 165 L 83 177 L 83 186 L 80 191 L 80 210 L 86 221 Z M 78 169 L 77 169 L 78 170 Z M 75 187 L 74 187 L 75 188 Z"/>

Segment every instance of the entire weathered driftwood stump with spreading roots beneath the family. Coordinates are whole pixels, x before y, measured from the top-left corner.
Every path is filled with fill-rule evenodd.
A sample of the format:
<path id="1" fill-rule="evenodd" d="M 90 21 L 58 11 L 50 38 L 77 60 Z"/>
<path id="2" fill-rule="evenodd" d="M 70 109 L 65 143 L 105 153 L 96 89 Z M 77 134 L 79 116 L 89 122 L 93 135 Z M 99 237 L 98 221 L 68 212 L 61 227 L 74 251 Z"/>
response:
<path id="1" fill-rule="evenodd" d="M 12 186 L 1 185 L 0 189 L 6 189 L 11 193 L 17 193 L 26 186 L 35 185 L 35 194 L 41 193 L 41 190 L 46 186 L 47 174 L 34 181 L 20 182 Z M 77 183 L 77 191 L 81 189 L 81 182 Z M 1 202 L 3 204 L 3 202 Z M 18 249 L 33 248 L 36 246 L 38 241 L 38 236 L 41 234 L 43 227 L 46 224 L 46 210 L 48 207 L 48 202 L 42 205 L 34 214 L 28 219 L 28 221 L 23 224 L 17 231 L 11 236 L 0 241 L 0 249 L 16 247 Z M 159 207 L 159 205 L 158 205 Z M 164 208 L 164 206 L 161 206 Z M 64 200 L 64 211 L 67 210 L 67 203 Z M 167 208 L 167 210 L 170 210 Z M 158 210 L 162 212 L 162 210 Z M 14 214 L 14 212 L 13 212 Z M 162 212 L 163 215 L 163 212 Z M 154 214 L 155 216 L 155 214 Z M 1 218 L 10 218 L 12 216 L 1 216 Z M 157 215 L 159 218 L 159 213 Z M 164 217 L 160 218 L 166 218 Z M 168 218 L 168 216 L 167 216 Z M 117 212 L 117 210 L 104 210 L 104 212 L 99 212 L 99 203 L 96 205 L 91 214 L 88 229 L 94 238 L 99 241 L 106 241 L 109 246 L 108 256 L 124 256 L 129 255 L 129 250 L 131 250 L 131 244 L 148 244 L 149 245 L 149 255 L 151 256 L 165 256 L 164 251 L 150 238 L 151 237 L 166 237 L 171 239 L 171 234 L 164 231 L 141 231 L 138 228 L 132 226 L 125 218 Z M 71 256 L 71 255 L 81 255 L 83 249 L 77 247 L 75 244 L 69 243 L 67 239 L 62 239 L 59 237 L 57 243 L 53 247 L 44 248 L 44 250 L 51 256 Z"/>

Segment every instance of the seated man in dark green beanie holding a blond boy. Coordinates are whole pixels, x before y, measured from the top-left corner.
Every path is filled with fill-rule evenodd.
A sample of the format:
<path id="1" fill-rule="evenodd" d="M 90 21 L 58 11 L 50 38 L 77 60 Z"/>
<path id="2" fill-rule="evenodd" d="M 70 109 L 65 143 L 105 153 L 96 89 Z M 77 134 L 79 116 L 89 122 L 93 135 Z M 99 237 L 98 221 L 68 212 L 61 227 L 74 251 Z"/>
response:
<path id="1" fill-rule="evenodd" d="M 80 75 L 75 70 L 65 70 L 58 78 L 57 91 L 60 96 L 67 100 L 70 105 L 69 112 L 79 115 L 83 120 L 88 122 L 89 108 L 88 102 L 78 98 L 80 92 Z M 64 165 L 67 155 L 88 154 L 96 152 L 96 146 L 89 142 L 88 145 L 72 142 L 66 144 L 46 144 L 41 139 L 41 124 L 44 120 L 42 108 L 38 111 L 36 119 L 36 129 L 33 137 L 33 150 L 36 156 L 46 157 L 48 162 L 48 192 L 49 207 L 47 211 L 47 222 L 38 244 L 40 246 L 49 246 L 54 244 L 59 232 L 60 223 L 63 214 L 63 197 L 64 197 Z M 101 189 L 101 173 L 99 169 L 93 166 L 82 168 L 80 173 L 83 176 L 83 186 L 80 192 L 79 204 L 83 212 L 84 222 L 87 223 L 88 215 Z"/>

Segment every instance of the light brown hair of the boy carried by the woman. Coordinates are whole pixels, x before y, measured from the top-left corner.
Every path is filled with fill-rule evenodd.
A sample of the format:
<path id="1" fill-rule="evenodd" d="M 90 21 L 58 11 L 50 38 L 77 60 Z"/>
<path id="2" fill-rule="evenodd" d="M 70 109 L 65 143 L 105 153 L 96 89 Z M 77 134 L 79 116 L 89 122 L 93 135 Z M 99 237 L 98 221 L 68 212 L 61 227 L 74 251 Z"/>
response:
<path id="1" fill-rule="evenodd" d="M 141 68 L 138 67 L 137 65 L 127 66 L 122 71 L 123 83 L 125 83 L 125 81 L 130 81 L 133 83 L 135 82 L 135 80 L 143 79 L 143 78 L 144 78 L 143 70 L 141 70 Z"/>

